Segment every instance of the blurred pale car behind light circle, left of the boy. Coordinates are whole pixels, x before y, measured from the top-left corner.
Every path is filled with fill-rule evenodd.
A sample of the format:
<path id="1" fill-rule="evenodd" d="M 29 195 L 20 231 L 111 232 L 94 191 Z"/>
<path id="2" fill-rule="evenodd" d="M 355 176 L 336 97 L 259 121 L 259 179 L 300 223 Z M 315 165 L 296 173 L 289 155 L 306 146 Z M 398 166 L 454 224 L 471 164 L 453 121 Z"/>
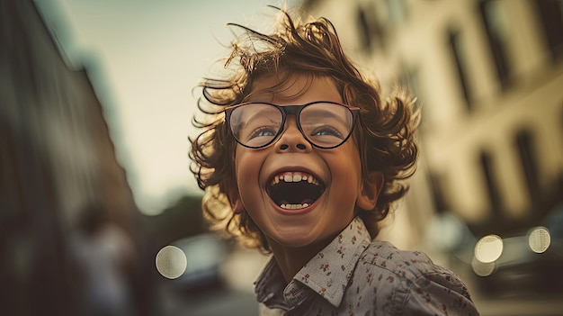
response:
<path id="1" fill-rule="evenodd" d="M 176 240 L 173 246 L 183 250 L 186 268 L 172 282 L 183 290 L 196 290 L 223 283 L 220 267 L 228 255 L 228 247 L 215 233 L 207 232 Z"/>

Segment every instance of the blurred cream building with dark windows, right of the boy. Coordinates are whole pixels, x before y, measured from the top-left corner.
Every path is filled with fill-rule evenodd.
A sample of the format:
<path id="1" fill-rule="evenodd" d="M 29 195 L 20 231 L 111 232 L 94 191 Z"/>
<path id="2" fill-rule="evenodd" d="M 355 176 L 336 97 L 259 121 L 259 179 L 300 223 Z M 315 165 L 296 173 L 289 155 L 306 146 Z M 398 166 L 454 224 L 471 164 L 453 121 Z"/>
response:
<path id="1" fill-rule="evenodd" d="M 416 247 L 436 212 L 479 237 L 530 227 L 563 199 L 563 1 L 306 0 L 380 79 L 410 86 L 421 160 L 398 213 Z M 408 231 L 414 232 L 408 234 Z M 407 236 L 407 238 L 405 238 Z"/>

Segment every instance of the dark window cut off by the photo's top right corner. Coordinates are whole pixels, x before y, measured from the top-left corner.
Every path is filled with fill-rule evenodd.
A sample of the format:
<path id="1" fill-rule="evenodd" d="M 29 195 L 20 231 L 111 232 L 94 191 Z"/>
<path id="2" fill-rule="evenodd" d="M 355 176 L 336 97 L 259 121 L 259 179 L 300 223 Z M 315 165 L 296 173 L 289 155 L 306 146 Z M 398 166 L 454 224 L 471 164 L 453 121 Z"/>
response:
<path id="1" fill-rule="evenodd" d="M 551 58 L 563 58 L 563 0 L 534 0 Z"/>

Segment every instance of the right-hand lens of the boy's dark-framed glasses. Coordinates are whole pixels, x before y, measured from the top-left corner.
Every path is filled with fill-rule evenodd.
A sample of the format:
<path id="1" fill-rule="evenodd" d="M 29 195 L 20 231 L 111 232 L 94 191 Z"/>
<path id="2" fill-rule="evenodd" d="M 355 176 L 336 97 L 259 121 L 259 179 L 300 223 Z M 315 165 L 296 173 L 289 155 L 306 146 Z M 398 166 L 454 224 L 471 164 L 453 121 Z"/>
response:
<path id="1" fill-rule="evenodd" d="M 299 122 L 308 141 L 320 148 L 333 148 L 350 136 L 353 114 L 340 104 L 311 104 L 303 108 Z"/>

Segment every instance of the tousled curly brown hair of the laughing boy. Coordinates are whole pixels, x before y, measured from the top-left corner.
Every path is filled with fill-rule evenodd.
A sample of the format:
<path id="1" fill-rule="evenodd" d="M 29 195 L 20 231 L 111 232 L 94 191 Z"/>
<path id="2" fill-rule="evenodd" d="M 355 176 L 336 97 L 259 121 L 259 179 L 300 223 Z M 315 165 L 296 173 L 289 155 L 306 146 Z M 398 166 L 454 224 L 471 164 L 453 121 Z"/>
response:
<path id="1" fill-rule="evenodd" d="M 237 199 L 237 142 L 228 131 L 224 108 L 243 102 L 256 80 L 267 75 L 330 77 L 344 104 L 361 108 L 353 141 L 360 152 L 362 176 L 369 179 L 374 171 L 384 176 L 376 207 L 355 211 L 375 237 L 378 222 L 389 214 L 391 203 L 407 193 L 408 186 L 400 180 L 412 176 L 416 169 L 414 132 L 419 114 L 413 110 L 414 99 L 398 92 L 381 100 L 379 85 L 363 77 L 344 54 L 335 27 L 326 18 L 299 23 L 286 11 L 278 10 L 281 19 L 272 34 L 229 24 L 244 33 L 231 43 L 232 51 L 224 64 L 228 74 L 201 83 L 200 113 L 193 116 L 192 123 L 203 131 L 190 139 L 190 158 L 191 171 L 205 190 L 202 210 L 216 229 L 236 236 L 246 247 L 271 251 L 247 212 L 233 212 L 230 203 Z"/>

